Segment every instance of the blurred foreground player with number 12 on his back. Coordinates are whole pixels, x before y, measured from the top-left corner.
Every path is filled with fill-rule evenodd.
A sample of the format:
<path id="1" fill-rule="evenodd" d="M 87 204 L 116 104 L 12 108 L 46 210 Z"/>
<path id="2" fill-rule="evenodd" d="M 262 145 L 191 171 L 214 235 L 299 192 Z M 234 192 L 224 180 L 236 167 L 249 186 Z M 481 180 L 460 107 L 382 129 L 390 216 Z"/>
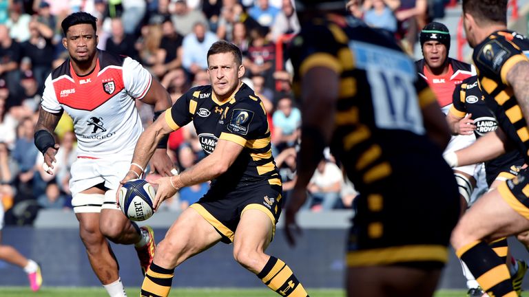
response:
<path id="1" fill-rule="evenodd" d="M 459 217 L 457 184 L 442 158 L 448 124 L 394 41 L 340 14 L 341 1 L 315 2 L 300 13 L 289 55 L 302 142 L 287 238 L 295 239 L 295 213 L 329 145 L 360 192 L 346 255 L 348 295 L 432 296 Z"/>

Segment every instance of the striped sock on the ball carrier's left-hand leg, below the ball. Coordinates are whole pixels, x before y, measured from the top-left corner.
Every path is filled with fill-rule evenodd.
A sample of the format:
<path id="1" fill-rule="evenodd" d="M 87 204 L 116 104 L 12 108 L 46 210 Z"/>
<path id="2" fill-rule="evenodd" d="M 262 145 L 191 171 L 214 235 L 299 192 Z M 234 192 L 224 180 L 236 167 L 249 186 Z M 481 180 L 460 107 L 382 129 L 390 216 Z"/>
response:
<path id="1" fill-rule="evenodd" d="M 168 270 L 154 263 L 151 264 L 143 284 L 141 285 L 141 297 L 167 297 L 173 282 L 174 268 Z"/>

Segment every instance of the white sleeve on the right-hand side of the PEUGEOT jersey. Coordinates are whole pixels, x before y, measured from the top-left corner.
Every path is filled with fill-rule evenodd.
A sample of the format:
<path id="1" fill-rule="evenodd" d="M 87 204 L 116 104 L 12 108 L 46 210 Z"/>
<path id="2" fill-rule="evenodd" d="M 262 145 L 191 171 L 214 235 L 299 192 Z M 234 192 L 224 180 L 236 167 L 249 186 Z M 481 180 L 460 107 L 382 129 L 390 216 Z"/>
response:
<path id="1" fill-rule="evenodd" d="M 125 90 L 135 99 L 142 99 L 149 91 L 152 75 L 140 63 L 132 58 L 123 62 L 123 84 Z"/>

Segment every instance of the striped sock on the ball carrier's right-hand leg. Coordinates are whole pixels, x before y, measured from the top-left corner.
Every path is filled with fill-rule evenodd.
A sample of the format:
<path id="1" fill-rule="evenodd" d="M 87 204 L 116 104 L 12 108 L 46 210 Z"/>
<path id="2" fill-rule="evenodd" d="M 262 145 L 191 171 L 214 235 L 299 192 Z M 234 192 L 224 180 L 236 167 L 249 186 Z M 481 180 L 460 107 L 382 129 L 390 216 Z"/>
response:
<path id="1" fill-rule="evenodd" d="M 257 275 L 270 289 L 281 296 L 309 297 L 298 278 L 295 278 L 290 267 L 280 259 L 271 256 L 264 268 Z"/>

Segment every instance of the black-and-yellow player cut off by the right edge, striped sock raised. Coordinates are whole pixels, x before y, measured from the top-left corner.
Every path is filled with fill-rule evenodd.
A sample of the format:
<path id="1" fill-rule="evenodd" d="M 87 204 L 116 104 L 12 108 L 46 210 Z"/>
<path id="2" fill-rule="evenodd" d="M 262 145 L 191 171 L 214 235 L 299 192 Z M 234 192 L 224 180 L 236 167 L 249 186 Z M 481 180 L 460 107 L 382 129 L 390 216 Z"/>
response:
<path id="1" fill-rule="evenodd" d="M 464 0 L 466 38 L 474 48 L 473 60 L 485 102 L 501 129 L 479 140 L 488 142 L 486 153 L 506 151 L 515 144 L 529 161 L 529 41 L 507 30 L 507 0 Z M 485 153 L 485 152 L 484 152 Z M 451 242 L 490 296 L 517 296 L 505 263 L 490 250 L 487 242 L 529 229 L 529 172 L 499 184 L 479 198 L 461 217 Z"/>

